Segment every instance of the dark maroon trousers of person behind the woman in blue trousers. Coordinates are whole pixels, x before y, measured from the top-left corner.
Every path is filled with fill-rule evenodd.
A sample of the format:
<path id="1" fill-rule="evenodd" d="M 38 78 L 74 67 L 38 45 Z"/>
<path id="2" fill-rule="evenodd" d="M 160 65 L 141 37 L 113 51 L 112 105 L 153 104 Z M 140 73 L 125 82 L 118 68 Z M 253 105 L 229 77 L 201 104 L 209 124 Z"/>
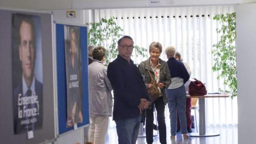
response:
<path id="1" fill-rule="evenodd" d="M 187 119 L 187 129 L 191 129 L 191 98 L 186 99 L 186 119 Z M 179 124 L 179 114 L 177 113 L 177 129 L 180 129 Z"/>

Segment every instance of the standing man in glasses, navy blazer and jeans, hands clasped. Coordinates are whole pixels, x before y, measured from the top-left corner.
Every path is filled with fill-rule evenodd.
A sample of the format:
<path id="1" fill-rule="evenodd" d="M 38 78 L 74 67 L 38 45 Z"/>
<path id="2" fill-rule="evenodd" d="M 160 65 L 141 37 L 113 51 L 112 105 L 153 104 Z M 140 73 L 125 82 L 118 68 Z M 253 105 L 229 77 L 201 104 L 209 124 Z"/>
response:
<path id="1" fill-rule="evenodd" d="M 118 57 L 109 63 L 107 76 L 114 90 L 113 120 L 116 123 L 118 143 L 135 144 L 141 113 L 150 105 L 143 78 L 130 59 L 134 48 L 130 36 L 118 40 Z"/>

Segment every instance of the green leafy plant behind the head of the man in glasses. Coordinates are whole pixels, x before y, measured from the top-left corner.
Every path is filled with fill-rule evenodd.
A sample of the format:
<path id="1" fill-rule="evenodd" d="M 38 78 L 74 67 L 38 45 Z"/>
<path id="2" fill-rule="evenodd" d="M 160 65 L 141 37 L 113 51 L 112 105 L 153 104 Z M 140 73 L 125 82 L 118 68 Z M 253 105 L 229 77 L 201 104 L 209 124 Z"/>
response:
<path id="1" fill-rule="evenodd" d="M 99 22 L 88 24 L 88 45 L 104 46 L 107 50 L 105 55 L 105 65 L 113 61 L 118 51 L 116 48 L 118 39 L 122 36 L 123 29 L 115 22 L 115 18 L 102 18 Z M 135 56 L 147 56 L 145 53 L 147 49 L 139 46 L 134 47 Z"/>

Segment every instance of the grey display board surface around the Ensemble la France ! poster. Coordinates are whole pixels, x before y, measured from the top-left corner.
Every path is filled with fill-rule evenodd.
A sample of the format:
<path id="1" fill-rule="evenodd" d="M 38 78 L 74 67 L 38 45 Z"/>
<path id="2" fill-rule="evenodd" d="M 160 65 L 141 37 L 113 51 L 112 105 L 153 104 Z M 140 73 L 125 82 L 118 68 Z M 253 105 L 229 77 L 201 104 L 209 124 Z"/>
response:
<path id="1" fill-rule="evenodd" d="M 54 139 L 54 98 L 52 65 L 51 15 L 25 13 L 41 17 L 43 60 L 43 128 L 34 131 L 34 138 L 27 140 L 27 133 L 13 131 L 13 82 L 11 15 L 17 11 L 0 10 L 0 139 L 1 143 L 35 144 Z M 20 13 L 20 12 L 19 12 Z"/>

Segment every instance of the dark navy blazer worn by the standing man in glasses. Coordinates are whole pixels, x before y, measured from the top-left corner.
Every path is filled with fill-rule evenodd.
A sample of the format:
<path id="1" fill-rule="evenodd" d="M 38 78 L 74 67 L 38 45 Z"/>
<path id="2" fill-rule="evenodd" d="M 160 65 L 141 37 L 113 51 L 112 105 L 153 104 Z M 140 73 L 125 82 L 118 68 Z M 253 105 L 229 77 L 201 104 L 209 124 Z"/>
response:
<path id="1" fill-rule="evenodd" d="M 150 101 L 146 86 L 138 67 L 130 60 L 118 55 L 108 65 L 107 76 L 114 90 L 113 120 L 122 120 L 140 116 L 137 106 L 140 99 Z"/>

